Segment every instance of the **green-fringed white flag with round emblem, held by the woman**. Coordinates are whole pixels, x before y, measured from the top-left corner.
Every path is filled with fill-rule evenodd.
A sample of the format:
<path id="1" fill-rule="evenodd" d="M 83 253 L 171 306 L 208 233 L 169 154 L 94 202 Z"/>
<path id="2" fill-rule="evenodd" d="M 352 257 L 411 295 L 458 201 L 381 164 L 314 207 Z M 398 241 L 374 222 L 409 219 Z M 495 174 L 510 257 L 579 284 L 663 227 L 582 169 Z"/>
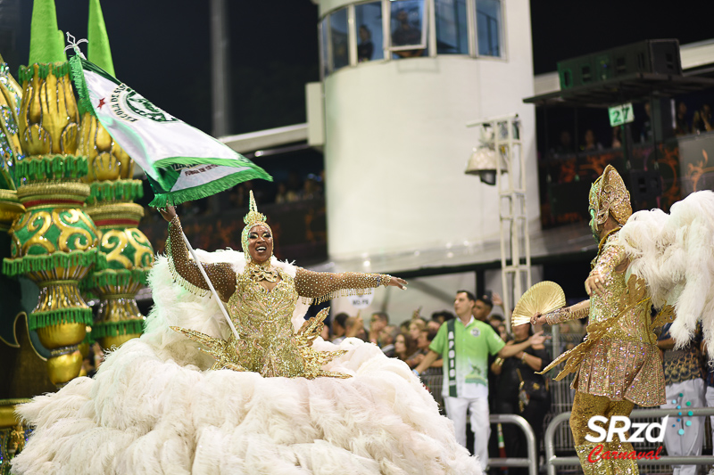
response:
<path id="1" fill-rule="evenodd" d="M 151 206 L 179 204 L 262 178 L 262 168 L 176 119 L 79 54 L 70 60 L 79 109 L 96 116 L 154 188 Z"/>

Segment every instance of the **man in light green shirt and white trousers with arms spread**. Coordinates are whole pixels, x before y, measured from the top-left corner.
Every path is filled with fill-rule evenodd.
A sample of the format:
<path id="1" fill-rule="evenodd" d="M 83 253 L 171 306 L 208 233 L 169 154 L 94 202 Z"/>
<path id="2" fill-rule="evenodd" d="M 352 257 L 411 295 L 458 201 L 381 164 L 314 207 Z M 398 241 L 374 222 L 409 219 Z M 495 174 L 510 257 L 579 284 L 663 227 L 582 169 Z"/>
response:
<path id="1" fill-rule="evenodd" d="M 458 318 L 441 326 L 429 346 L 429 353 L 415 368 L 415 373 L 425 371 L 439 356 L 444 357 L 444 405 L 452 420 L 456 439 L 466 446 L 466 416 L 470 412 L 471 430 L 474 431 L 474 450 L 482 467 L 488 466 L 488 356 L 502 358 L 514 356 L 526 348 L 542 345 L 542 332 L 528 340 L 505 346 L 503 340 L 488 323 L 473 316 L 476 299 L 469 291 L 457 291 L 453 302 Z M 452 371 L 453 370 L 453 371 Z"/>

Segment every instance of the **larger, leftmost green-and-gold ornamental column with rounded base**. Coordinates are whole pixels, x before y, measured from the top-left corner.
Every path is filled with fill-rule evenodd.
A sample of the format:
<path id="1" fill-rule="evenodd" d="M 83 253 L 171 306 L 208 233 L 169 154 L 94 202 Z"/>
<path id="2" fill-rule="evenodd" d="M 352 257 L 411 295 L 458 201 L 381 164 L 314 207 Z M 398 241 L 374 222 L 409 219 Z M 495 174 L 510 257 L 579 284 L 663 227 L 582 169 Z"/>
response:
<path id="1" fill-rule="evenodd" d="M 20 69 L 24 157 L 15 161 L 14 177 L 26 211 L 10 229 L 11 256 L 3 265 L 4 274 L 24 274 L 40 289 L 28 326 L 51 352 L 47 371 L 58 387 L 79 375 L 79 344 L 92 324 L 79 281 L 104 263 L 99 232 L 84 211 L 90 186 L 81 182 L 87 159 L 77 154 L 79 112 L 69 71 L 67 62 Z"/>

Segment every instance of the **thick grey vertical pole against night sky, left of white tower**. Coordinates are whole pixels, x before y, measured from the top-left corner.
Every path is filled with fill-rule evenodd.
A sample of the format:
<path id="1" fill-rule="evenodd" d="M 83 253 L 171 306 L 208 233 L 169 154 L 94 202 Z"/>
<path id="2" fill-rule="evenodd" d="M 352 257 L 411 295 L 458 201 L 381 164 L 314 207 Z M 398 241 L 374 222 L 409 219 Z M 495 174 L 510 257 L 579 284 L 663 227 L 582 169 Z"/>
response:
<path id="1" fill-rule="evenodd" d="M 212 134 L 228 135 L 228 35 L 225 0 L 211 0 Z"/>

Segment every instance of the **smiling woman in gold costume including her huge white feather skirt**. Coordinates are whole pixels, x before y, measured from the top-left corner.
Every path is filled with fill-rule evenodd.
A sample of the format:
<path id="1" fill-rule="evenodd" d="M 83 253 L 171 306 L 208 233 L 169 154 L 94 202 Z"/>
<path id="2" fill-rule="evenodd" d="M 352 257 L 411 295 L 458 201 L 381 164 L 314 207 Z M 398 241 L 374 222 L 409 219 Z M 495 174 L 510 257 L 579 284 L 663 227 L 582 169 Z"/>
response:
<path id="1" fill-rule="evenodd" d="M 109 353 L 94 378 L 22 405 L 36 429 L 13 473 L 483 473 L 407 364 L 361 340 L 323 341 L 324 314 L 303 318 L 302 299 L 403 280 L 271 258 L 270 226 L 253 204 L 245 258 L 195 250 L 236 339 L 187 255 L 179 219 L 163 215 L 170 256 L 149 275 L 144 334 Z"/>

